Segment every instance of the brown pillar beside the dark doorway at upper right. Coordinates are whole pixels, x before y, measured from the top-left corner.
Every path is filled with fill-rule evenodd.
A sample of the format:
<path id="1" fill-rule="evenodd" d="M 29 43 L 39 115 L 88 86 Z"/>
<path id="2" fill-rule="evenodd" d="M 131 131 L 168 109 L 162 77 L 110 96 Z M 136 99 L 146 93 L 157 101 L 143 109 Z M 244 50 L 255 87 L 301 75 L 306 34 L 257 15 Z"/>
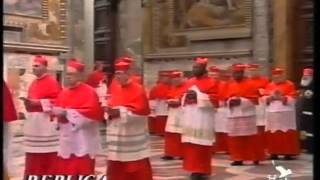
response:
<path id="1" fill-rule="evenodd" d="M 273 0 L 273 66 L 286 69 L 291 77 L 293 69 L 292 18 L 295 0 Z"/>

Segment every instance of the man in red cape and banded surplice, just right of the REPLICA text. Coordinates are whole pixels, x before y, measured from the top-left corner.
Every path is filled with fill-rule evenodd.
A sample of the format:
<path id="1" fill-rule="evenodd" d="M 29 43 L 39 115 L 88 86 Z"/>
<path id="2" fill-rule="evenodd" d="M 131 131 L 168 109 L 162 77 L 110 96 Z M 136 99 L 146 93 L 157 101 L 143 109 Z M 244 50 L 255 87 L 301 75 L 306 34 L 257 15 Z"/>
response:
<path id="1" fill-rule="evenodd" d="M 130 64 L 115 65 L 115 80 L 120 85 L 112 91 L 106 109 L 107 177 L 110 180 L 152 180 L 147 117 L 148 99 L 141 84 L 132 82 Z"/>

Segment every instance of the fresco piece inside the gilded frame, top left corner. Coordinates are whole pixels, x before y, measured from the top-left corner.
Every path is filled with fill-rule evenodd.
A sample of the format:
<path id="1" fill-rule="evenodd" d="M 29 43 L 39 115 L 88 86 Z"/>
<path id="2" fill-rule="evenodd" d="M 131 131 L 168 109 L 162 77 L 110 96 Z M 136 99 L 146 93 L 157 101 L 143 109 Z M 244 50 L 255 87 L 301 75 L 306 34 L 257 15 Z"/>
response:
<path id="1" fill-rule="evenodd" d="M 3 11 L 10 14 L 42 17 L 42 0 L 4 0 Z"/>

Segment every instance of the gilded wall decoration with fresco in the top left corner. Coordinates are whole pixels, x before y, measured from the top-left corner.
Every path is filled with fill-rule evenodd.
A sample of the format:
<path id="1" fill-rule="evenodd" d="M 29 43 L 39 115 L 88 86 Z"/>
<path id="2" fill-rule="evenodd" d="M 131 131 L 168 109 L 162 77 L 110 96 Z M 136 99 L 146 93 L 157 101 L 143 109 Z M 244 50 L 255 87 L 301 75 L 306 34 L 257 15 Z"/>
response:
<path id="1" fill-rule="evenodd" d="M 66 0 L 5 0 L 4 5 L 4 25 L 22 24 L 23 42 L 66 44 Z"/>

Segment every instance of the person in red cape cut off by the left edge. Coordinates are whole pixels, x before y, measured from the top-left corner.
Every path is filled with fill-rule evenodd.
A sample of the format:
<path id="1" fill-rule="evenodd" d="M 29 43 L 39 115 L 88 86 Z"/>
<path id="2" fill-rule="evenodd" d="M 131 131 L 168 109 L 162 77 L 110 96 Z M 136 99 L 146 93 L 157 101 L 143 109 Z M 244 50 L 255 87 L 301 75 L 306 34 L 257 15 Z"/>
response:
<path id="1" fill-rule="evenodd" d="M 2 80 L 3 81 L 3 80 Z M 4 125 L 4 138 L 3 138 L 3 153 L 4 153 L 4 178 L 6 180 L 9 179 L 9 175 L 8 175 L 8 169 L 7 169 L 7 151 L 8 151 L 8 143 L 9 143 L 9 134 L 8 134 L 8 123 L 16 121 L 18 119 L 17 117 L 17 112 L 16 109 L 14 107 L 14 103 L 12 100 L 12 95 L 11 92 L 7 86 L 7 84 L 3 81 L 3 125 Z"/>

